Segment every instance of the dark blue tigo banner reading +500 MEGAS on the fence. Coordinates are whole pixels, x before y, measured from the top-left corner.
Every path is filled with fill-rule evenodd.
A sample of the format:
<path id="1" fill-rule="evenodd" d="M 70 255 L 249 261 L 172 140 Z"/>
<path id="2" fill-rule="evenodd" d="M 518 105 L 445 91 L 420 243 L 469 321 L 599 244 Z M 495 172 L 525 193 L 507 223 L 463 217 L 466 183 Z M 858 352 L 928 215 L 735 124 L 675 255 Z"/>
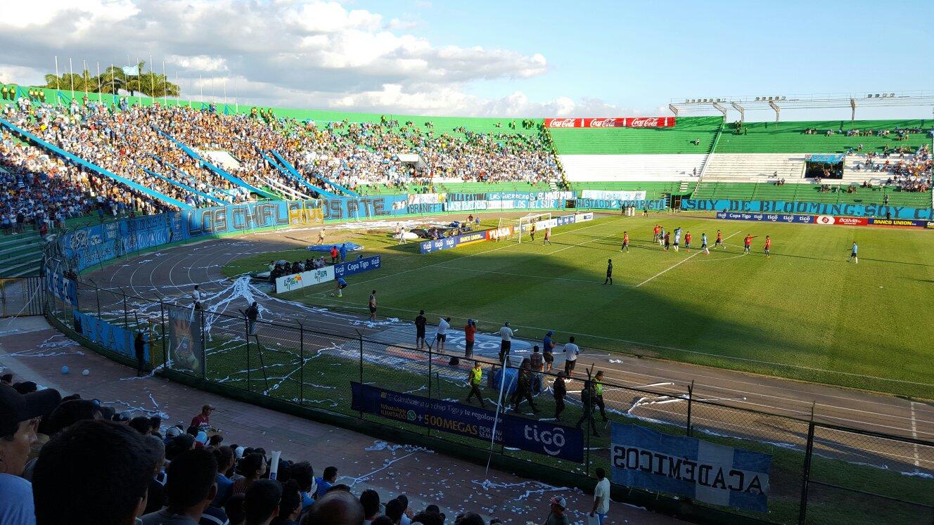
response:
<path id="1" fill-rule="evenodd" d="M 469 404 L 385 390 L 350 382 L 351 408 L 386 419 L 489 442 L 496 413 Z M 562 460 L 584 461 L 584 433 L 549 421 L 501 414 L 495 443 Z"/>

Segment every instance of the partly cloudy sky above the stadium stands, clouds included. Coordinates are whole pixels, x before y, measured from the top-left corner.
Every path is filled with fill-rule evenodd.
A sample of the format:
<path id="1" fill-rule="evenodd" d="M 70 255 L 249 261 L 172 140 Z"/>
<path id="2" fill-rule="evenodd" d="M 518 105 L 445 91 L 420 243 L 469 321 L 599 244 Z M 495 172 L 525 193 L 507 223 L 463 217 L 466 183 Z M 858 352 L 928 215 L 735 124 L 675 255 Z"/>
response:
<path id="1" fill-rule="evenodd" d="M 70 60 L 92 75 L 97 64 L 151 57 L 182 98 L 248 105 L 624 117 L 668 116 L 672 100 L 697 97 L 934 95 L 931 0 L 49 0 L 3 11 L 2 81 L 44 83 L 55 57 L 60 73 Z M 856 116 L 934 113 L 860 107 Z M 849 117 L 848 108 L 782 114 Z"/>

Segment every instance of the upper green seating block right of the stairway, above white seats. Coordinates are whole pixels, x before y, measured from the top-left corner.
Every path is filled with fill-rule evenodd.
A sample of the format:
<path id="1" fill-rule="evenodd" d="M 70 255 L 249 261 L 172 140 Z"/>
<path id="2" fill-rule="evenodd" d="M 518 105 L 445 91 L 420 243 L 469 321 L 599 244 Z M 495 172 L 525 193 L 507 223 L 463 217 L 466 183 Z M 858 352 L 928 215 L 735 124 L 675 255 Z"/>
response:
<path id="1" fill-rule="evenodd" d="M 843 153 L 848 148 L 856 149 L 860 144 L 864 151 L 910 147 L 930 144 L 927 133 L 909 134 L 907 140 L 899 140 L 895 128 L 930 130 L 934 121 L 804 121 L 804 122 L 746 122 L 743 133 L 737 134 L 732 124 L 724 126 L 716 143 L 715 153 Z M 805 135 L 806 129 L 819 130 L 817 135 Z M 826 135 L 833 130 L 834 135 Z M 844 133 L 840 133 L 843 130 Z M 889 130 L 888 136 L 846 136 L 848 130 Z"/>

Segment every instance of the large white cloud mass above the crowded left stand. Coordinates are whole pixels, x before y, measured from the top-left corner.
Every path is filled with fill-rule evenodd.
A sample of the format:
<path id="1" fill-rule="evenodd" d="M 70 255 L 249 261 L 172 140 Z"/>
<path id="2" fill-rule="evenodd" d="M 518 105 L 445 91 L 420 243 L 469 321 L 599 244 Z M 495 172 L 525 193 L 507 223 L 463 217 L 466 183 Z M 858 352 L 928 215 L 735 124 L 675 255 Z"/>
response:
<path id="1" fill-rule="evenodd" d="M 534 102 L 518 91 L 476 97 L 472 83 L 518 86 L 547 74 L 548 61 L 541 53 L 437 45 L 411 33 L 417 17 L 389 18 L 333 1 L 52 0 L 42 9 L 13 3 L 5 15 L 0 75 L 7 81 L 41 82 L 54 55 L 60 64 L 71 56 L 75 64 L 102 65 L 152 57 L 165 60 L 183 95 L 200 96 L 201 86 L 227 78 L 233 98 L 235 79 L 245 104 L 509 116 L 620 112 L 587 99 Z"/>

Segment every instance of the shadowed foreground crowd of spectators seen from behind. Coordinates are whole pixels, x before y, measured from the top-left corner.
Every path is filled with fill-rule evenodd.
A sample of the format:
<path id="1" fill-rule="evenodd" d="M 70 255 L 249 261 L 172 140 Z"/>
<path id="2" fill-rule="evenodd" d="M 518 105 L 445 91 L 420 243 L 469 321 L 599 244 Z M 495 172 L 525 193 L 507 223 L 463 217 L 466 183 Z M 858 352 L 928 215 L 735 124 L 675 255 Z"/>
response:
<path id="1" fill-rule="evenodd" d="M 354 493 L 337 468 L 321 475 L 262 447 L 225 445 L 205 405 L 191 425 L 125 412 L 79 394 L 0 384 L 3 525 L 442 525 L 438 505 L 416 511 L 404 494 Z M 357 489 L 359 490 L 359 489 Z M 552 498 L 549 523 L 567 523 Z M 473 512 L 456 525 L 484 525 Z"/>

